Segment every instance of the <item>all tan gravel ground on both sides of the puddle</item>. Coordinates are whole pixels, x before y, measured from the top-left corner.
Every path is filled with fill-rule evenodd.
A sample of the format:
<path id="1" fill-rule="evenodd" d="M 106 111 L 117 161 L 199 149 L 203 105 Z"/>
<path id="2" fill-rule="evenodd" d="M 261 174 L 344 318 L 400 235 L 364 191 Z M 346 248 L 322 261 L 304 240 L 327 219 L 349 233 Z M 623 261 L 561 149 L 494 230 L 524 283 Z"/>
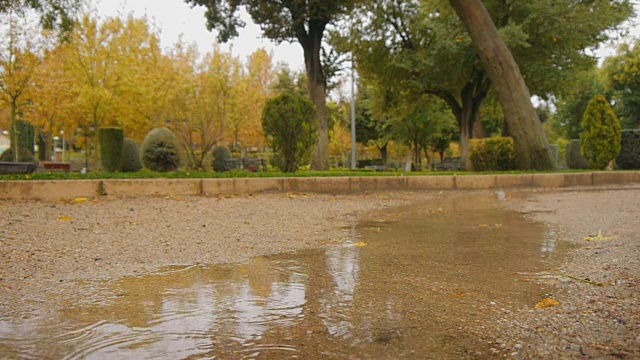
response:
<path id="1" fill-rule="evenodd" d="M 17 311 L 50 294 L 72 295 L 76 280 L 236 262 L 342 241 L 348 234 L 341 227 L 367 212 L 430 196 L 446 195 L 3 202 L 0 311 Z M 548 224 L 555 246 L 570 250 L 551 278 L 531 277 L 555 281 L 549 297 L 561 305 L 509 312 L 509 321 L 496 316 L 493 328 L 483 329 L 493 356 L 640 358 L 640 189 L 525 191 L 508 194 L 504 204 Z M 584 240 L 600 229 L 615 238 Z"/>

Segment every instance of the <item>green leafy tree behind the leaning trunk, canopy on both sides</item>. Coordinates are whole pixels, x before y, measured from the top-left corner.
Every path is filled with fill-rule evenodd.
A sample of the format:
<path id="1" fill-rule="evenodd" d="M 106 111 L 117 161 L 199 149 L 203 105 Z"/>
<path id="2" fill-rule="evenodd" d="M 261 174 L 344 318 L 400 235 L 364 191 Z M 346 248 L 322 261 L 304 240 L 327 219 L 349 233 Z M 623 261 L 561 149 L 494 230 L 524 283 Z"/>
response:
<path id="1" fill-rule="evenodd" d="M 628 1 L 485 3 L 528 85 L 543 98 L 559 95 L 575 70 L 592 66 L 594 60 L 584 49 L 606 40 L 607 30 L 631 14 Z M 460 127 L 464 158 L 491 82 L 448 2 L 372 0 L 359 8 L 350 32 L 351 39 L 339 45 L 343 51 L 353 45 L 362 76 L 398 92 L 428 93 L 447 103 Z"/>

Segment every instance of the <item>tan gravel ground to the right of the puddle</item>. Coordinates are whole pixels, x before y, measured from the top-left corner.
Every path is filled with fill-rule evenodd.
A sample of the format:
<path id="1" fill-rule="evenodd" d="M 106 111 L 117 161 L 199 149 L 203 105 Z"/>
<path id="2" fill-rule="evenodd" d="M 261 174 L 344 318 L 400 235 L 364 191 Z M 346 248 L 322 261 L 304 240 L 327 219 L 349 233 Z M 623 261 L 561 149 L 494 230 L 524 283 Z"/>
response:
<path id="1" fill-rule="evenodd" d="M 570 250 L 549 297 L 560 306 L 522 309 L 496 330 L 494 346 L 523 359 L 640 358 L 640 189 L 532 194 L 507 206 L 550 226 Z M 602 230 L 608 241 L 586 241 Z M 543 280 L 539 280 L 543 281 Z M 604 286 L 597 286 L 594 283 Z"/>

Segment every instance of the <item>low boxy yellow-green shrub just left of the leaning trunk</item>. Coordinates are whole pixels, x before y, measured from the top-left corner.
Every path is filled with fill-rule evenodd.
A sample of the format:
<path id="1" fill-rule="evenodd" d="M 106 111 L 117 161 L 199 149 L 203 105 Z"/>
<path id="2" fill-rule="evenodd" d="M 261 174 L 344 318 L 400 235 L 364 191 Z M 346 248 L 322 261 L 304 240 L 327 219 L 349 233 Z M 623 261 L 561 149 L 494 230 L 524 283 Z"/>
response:
<path id="1" fill-rule="evenodd" d="M 518 166 L 512 138 L 471 140 L 469 156 L 474 171 L 515 170 Z"/>

